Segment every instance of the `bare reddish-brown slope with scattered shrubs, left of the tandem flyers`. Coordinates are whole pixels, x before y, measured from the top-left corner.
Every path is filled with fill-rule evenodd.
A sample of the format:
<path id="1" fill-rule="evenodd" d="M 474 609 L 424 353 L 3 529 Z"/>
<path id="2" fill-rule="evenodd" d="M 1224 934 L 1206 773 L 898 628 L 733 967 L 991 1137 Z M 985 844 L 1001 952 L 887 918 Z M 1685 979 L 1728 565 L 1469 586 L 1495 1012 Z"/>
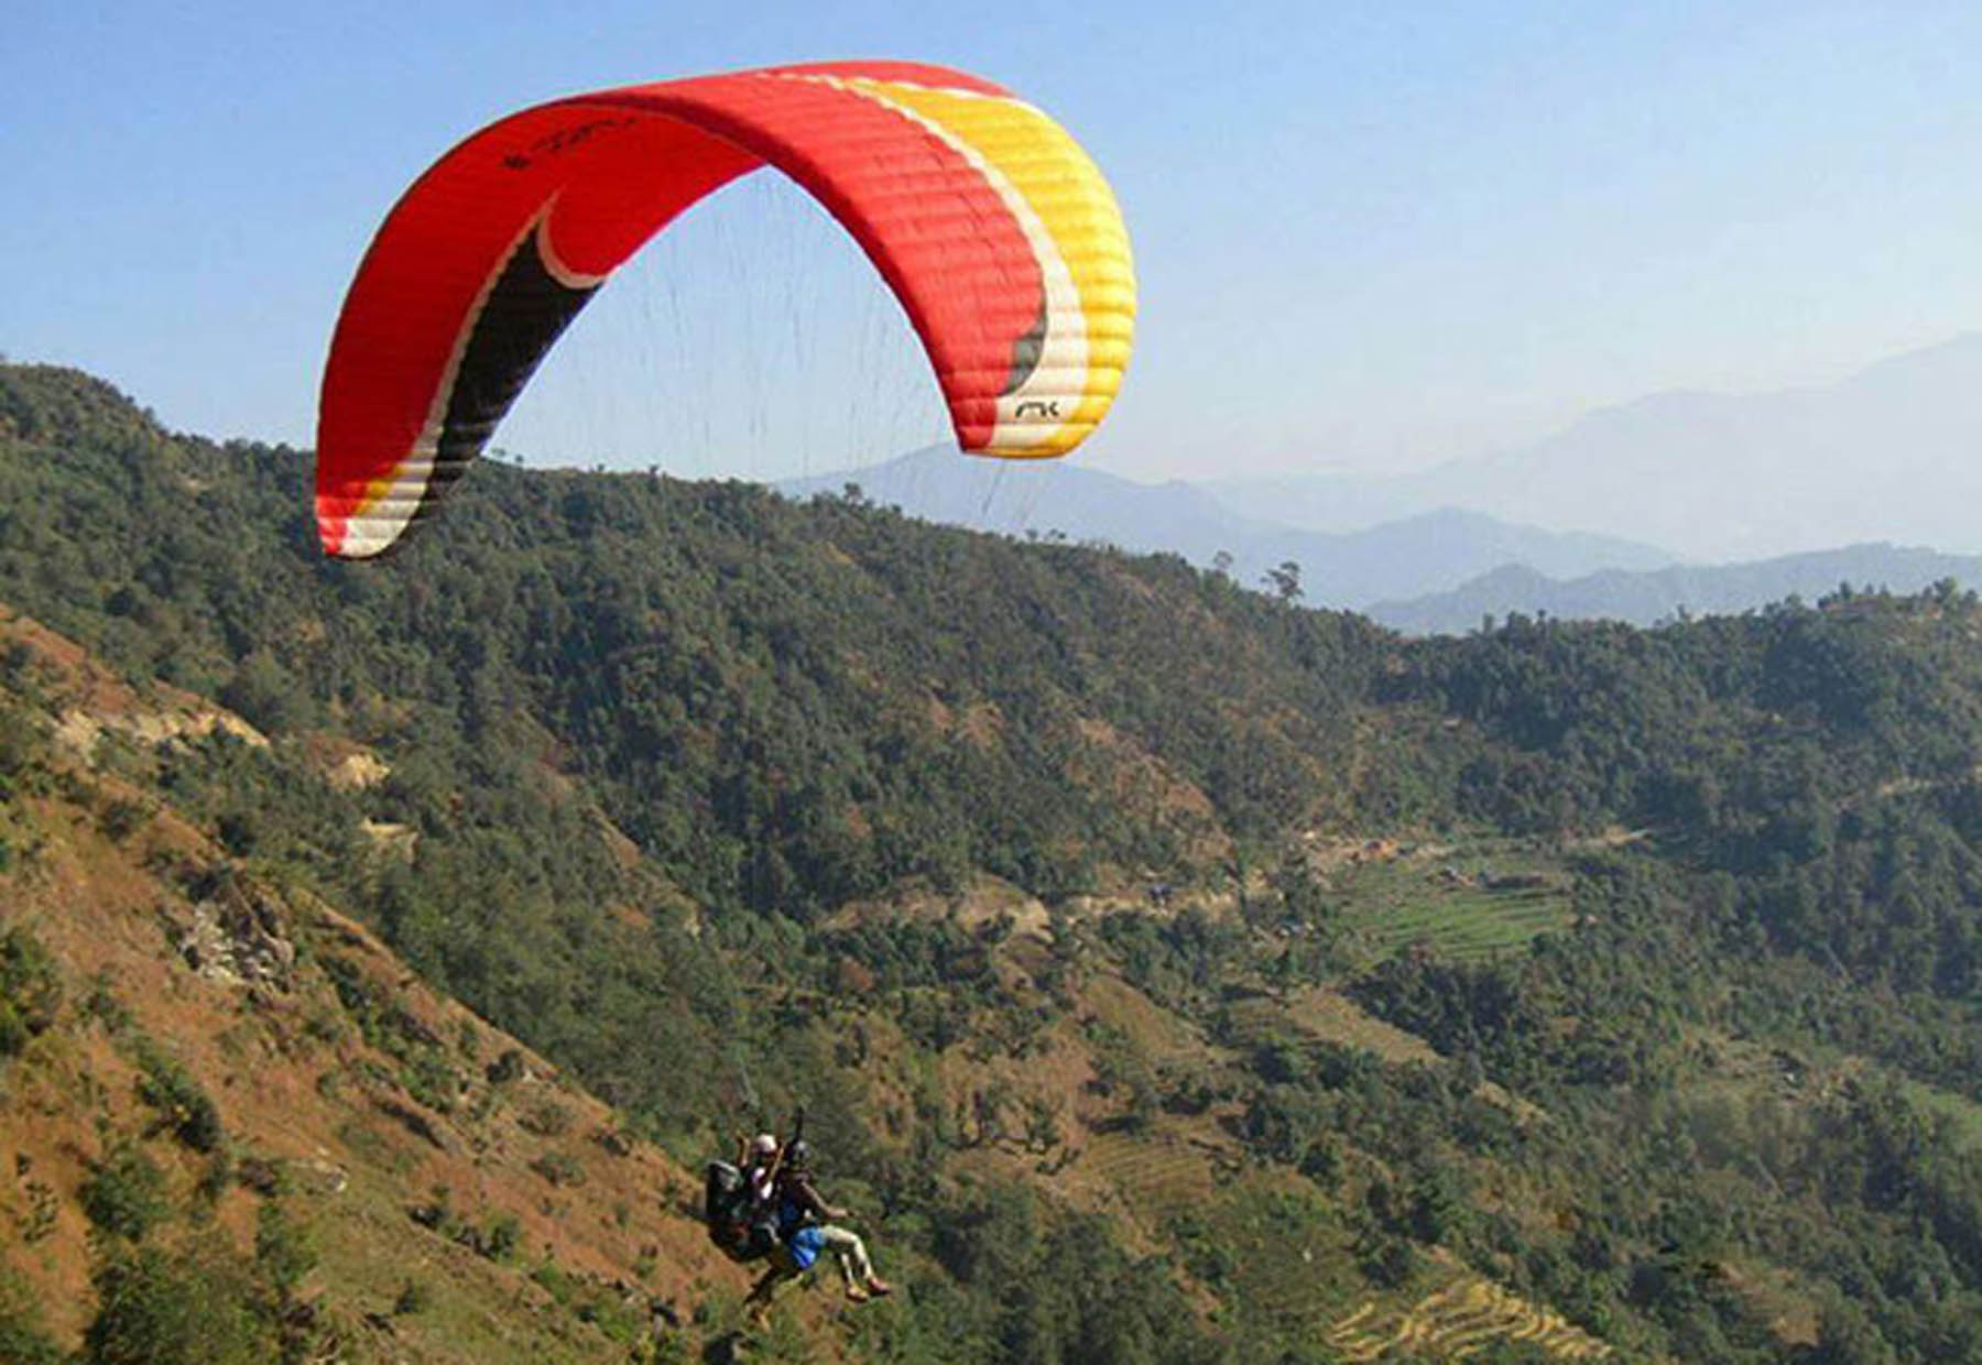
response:
<path id="1" fill-rule="evenodd" d="M 212 1224 L 248 1252 L 258 1203 L 297 1214 L 317 1250 L 303 1298 L 335 1359 L 638 1359 L 727 1329 L 747 1274 L 702 1236 L 700 1175 L 365 927 L 91 765 L 105 733 L 252 735 L 238 717 L 137 695 L 24 618 L 0 636 L 34 656 L 48 735 L 0 806 L 0 929 L 40 943 L 59 985 L 54 1024 L 0 1072 L 0 1266 L 59 1339 L 93 1312 L 83 1191 L 131 1147 L 166 1175 L 155 1236 Z M 147 1102 L 161 1066 L 210 1098 L 212 1151 Z M 797 1312 L 807 1353 L 836 1355 L 825 1319 Z"/>

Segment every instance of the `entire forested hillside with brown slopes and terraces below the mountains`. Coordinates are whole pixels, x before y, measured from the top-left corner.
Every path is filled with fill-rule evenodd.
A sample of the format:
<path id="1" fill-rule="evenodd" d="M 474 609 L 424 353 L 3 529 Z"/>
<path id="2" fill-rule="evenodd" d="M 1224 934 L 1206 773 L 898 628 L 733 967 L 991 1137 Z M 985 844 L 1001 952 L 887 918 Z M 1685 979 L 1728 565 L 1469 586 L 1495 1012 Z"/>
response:
<path id="1" fill-rule="evenodd" d="M 0 367 L 0 1357 L 1982 1359 L 1952 584 L 1405 640 L 499 464 L 339 565 L 307 489 Z M 900 1288 L 743 1335 L 694 1173 L 797 1103 Z"/>

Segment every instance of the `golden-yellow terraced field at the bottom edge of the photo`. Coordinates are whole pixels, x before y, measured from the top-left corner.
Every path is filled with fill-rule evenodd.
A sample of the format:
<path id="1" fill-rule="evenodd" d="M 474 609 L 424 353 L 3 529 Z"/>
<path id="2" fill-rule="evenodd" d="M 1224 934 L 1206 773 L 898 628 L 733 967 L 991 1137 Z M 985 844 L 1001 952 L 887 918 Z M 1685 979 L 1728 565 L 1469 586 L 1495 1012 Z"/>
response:
<path id="1" fill-rule="evenodd" d="M 1374 1300 L 1328 1329 L 1328 1343 L 1346 1361 L 1377 1361 L 1385 1351 L 1415 1351 L 1463 1361 L 1488 1341 L 1534 1341 L 1564 1361 L 1603 1361 L 1611 1347 L 1560 1313 L 1536 1308 L 1490 1280 L 1465 1276 L 1409 1308 L 1379 1308 Z"/>

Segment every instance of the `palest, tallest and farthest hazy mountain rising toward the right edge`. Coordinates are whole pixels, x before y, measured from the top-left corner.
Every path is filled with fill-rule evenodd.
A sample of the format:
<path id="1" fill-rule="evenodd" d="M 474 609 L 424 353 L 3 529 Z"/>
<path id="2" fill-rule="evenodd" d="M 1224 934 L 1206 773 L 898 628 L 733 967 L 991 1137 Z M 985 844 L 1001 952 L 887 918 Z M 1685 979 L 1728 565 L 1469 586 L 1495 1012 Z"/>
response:
<path id="1" fill-rule="evenodd" d="M 1655 394 L 1516 450 L 1395 477 L 1233 477 L 1207 491 L 1241 515 L 1316 531 L 1465 507 L 1703 563 L 1867 541 L 1982 551 L 1978 432 L 1982 333 L 1835 384 Z"/>

